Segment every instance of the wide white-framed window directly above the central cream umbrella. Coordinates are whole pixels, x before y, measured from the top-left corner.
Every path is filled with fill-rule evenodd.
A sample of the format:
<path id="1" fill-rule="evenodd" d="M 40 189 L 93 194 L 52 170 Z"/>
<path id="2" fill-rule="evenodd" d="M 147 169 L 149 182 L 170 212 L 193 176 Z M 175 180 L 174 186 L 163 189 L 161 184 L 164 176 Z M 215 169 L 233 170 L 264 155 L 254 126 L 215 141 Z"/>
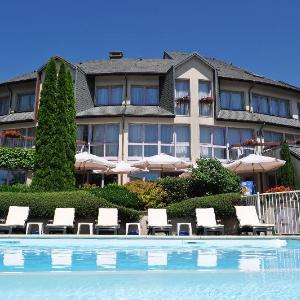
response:
<path id="1" fill-rule="evenodd" d="M 166 153 L 190 157 L 189 125 L 129 124 L 128 156 L 143 158 Z"/>

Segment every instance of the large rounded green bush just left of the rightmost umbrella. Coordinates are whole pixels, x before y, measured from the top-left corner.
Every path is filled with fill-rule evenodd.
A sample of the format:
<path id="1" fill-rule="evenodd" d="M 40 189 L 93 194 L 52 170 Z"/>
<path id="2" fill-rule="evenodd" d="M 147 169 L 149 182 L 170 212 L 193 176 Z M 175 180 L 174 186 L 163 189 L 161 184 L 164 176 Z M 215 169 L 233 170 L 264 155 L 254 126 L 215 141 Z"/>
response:
<path id="1" fill-rule="evenodd" d="M 217 195 L 240 192 L 240 177 L 224 168 L 217 159 L 199 159 L 192 168 L 189 181 L 190 196 Z"/>

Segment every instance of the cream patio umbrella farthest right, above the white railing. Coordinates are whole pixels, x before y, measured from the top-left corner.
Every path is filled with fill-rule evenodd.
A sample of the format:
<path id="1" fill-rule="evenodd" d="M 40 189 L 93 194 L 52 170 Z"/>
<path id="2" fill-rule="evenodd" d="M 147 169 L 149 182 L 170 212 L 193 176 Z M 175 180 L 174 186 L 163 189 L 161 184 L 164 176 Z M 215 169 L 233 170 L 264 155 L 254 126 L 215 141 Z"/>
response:
<path id="1" fill-rule="evenodd" d="M 269 156 L 250 154 L 225 167 L 237 174 L 275 171 L 285 164 L 284 160 Z"/>

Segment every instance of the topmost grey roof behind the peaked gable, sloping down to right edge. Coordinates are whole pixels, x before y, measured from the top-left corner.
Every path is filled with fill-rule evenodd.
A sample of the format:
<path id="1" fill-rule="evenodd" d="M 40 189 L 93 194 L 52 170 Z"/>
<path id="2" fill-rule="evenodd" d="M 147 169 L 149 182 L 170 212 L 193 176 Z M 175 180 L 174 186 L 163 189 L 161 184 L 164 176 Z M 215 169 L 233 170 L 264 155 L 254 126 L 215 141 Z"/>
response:
<path id="1" fill-rule="evenodd" d="M 180 61 L 187 59 L 193 53 L 166 52 L 166 54 L 179 63 Z M 215 58 L 204 57 L 204 59 L 217 71 L 219 77 L 227 78 L 227 79 L 251 81 L 251 82 L 257 82 L 257 83 L 268 84 L 268 85 L 275 85 L 278 87 L 283 87 L 283 88 L 300 92 L 299 87 L 290 85 L 283 81 L 276 81 L 276 80 L 266 78 L 264 76 L 260 76 L 253 72 L 247 71 L 245 69 L 239 68 L 237 66 L 234 66 L 232 64 L 226 63 L 224 61 Z"/>

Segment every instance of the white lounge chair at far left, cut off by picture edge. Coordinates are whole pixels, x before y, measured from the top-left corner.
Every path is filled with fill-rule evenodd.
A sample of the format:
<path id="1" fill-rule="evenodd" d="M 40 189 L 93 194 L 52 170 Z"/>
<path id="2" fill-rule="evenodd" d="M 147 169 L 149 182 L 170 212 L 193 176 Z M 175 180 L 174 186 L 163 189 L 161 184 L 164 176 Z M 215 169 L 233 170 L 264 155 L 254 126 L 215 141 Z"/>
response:
<path id="1" fill-rule="evenodd" d="M 11 234 L 14 228 L 25 229 L 28 215 L 28 206 L 10 206 L 6 220 L 0 220 L 2 222 L 0 231 L 7 231 L 8 234 Z"/>

